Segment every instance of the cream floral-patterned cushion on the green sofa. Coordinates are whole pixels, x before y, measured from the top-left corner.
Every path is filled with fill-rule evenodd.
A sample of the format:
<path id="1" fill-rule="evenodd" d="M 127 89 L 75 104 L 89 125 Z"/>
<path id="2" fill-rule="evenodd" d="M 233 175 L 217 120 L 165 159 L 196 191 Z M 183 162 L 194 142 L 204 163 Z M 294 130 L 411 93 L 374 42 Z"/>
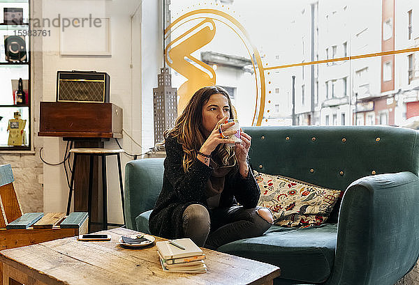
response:
<path id="1" fill-rule="evenodd" d="M 270 208 L 274 224 L 305 228 L 328 219 L 341 190 L 332 190 L 280 175 L 253 170 L 260 187 L 258 206 Z"/>

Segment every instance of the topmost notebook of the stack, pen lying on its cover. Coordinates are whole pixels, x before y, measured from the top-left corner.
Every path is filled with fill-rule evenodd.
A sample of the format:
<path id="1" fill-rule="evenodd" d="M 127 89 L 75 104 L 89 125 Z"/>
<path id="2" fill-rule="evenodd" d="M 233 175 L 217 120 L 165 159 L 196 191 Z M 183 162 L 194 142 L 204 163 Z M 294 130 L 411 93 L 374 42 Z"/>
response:
<path id="1" fill-rule="evenodd" d="M 173 241 L 178 245 L 182 245 L 185 249 L 180 249 L 179 247 L 170 244 L 167 240 L 156 242 L 157 250 L 160 252 L 163 259 L 179 259 L 182 257 L 203 255 L 202 249 L 200 249 L 190 238 L 179 238 Z"/>

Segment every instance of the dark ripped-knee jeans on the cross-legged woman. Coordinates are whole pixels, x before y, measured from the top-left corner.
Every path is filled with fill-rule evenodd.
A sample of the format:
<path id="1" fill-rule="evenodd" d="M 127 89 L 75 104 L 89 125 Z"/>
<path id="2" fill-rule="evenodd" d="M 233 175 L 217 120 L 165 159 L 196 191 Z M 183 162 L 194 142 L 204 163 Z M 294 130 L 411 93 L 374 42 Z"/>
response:
<path id="1" fill-rule="evenodd" d="M 221 245 L 242 238 L 261 236 L 271 224 L 258 215 L 258 209 L 243 206 L 208 210 L 192 204 L 184 210 L 184 236 L 198 246 L 217 249 Z"/>

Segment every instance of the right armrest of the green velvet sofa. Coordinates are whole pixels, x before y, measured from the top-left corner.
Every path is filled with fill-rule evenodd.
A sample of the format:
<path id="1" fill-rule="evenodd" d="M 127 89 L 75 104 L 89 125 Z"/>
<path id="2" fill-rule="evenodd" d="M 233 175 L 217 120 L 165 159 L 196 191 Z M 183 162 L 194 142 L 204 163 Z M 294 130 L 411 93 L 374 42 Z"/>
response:
<path id="1" fill-rule="evenodd" d="M 337 248 L 326 284 L 395 284 L 419 253 L 419 179 L 404 171 L 351 183 L 339 211 Z"/>

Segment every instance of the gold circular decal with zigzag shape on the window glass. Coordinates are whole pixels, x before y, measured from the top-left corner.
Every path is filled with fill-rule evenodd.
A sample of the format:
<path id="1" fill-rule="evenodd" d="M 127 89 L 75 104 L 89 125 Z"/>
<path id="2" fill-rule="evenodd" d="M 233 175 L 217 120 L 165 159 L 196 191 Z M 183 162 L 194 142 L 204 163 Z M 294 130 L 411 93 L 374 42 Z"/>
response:
<path id="1" fill-rule="evenodd" d="M 192 21 L 196 22 L 196 20 L 200 20 L 200 22 L 190 27 Z M 173 21 L 165 30 L 166 38 L 177 29 L 181 31 L 180 35 L 172 40 L 165 49 L 165 60 L 168 65 L 186 77 L 186 82 L 177 91 L 179 95 L 178 113 L 182 113 L 196 90 L 203 86 L 216 84 L 214 68 L 191 55 L 213 40 L 216 35 L 216 22 L 228 26 L 247 49 L 256 83 L 256 103 L 252 125 L 260 125 L 265 110 L 265 69 L 260 54 L 251 44 L 247 31 L 240 22 L 228 13 L 210 8 L 200 8 L 185 13 Z"/>

